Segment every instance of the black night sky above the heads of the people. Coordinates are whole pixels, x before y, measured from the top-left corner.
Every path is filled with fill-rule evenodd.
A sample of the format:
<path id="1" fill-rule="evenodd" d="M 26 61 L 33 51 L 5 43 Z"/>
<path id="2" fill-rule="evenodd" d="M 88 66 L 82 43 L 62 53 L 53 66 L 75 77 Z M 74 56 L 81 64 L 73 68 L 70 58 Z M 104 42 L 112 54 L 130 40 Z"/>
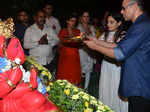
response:
<path id="1" fill-rule="evenodd" d="M 105 11 L 120 11 L 122 0 L 3 0 L 0 4 L 0 18 L 15 18 L 18 10 L 22 8 L 33 15 L 37 9 L 43 7 L 45 2 L 53 4 L 53 15 L 61 22 L 62 18 L 68 13 L 78 13 L 82 9 L 88 9 L 91 16 L 101 19 Z M 145 0 L 145 2 L 147 1 Z"/>

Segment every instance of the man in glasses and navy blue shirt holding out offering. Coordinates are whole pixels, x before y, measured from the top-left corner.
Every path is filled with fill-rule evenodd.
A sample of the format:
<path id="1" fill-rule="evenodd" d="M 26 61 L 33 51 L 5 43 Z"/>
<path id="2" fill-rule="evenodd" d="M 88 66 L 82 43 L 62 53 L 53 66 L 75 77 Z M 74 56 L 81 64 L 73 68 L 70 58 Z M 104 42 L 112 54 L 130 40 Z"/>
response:
<path id="1" fill-rule="evenodd" d="M 144 13 L 142 0 L 123 0 L 121 13 L 133 24 L 120 42 L 89 38 L 84 43 L 123 62 L 119 94 L 128 98 L 129 112 L 150 112 L 150 19 Z"/>

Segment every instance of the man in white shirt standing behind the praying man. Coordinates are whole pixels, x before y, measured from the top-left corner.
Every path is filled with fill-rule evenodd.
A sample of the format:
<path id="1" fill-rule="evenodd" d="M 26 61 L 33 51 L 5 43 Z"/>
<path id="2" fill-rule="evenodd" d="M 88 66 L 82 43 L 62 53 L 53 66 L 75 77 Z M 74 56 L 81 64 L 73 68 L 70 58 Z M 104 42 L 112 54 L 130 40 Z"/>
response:
<path id="1" fill-rule="evenodd" d="M 59 33 L 61 26 L 59 24 L 59 21 L 57 18 L 52 16 L 53 6 L 52 4 L 47 3 L 45 7 L 43 8 L 45 15 L 46 15 L 46 25 L 48 27 L 53 28 L 53 30 L 56 32 L 56 34 Z"/>

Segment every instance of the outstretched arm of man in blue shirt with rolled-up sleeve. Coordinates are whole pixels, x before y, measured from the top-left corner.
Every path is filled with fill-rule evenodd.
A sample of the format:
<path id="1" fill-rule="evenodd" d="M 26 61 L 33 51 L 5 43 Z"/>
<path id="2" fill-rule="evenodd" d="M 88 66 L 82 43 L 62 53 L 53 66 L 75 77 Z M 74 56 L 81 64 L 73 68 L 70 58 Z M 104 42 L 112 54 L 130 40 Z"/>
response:
<path id="1" fill-rule="evenodd" d="M 150 32 L 147 27 L 136 25 L 135 28 L 132 28 L 118 44 L 100 41 L 95 42 L 90 38 L 89 40 L 84 41 L 84 43 L 91 49 L 101 52 L 108 57 L 123 61 L 133 55 L 141 44 L 148 39 L 149 35 Z"/>

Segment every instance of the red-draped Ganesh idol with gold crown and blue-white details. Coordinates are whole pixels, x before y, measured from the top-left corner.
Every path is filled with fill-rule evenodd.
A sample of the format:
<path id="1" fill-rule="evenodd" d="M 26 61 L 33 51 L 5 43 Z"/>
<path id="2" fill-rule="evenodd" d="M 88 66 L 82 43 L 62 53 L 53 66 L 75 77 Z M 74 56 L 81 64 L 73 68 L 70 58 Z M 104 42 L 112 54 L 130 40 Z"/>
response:
<path id="1" fill-rule="evenodd" d="M 56 112 L 56 106 L 37 91 L 35 67 L 29 81 L 22 80 L 25 55 L 13 27 L 12 19 L 0 20 L 0 112 Z"/>

